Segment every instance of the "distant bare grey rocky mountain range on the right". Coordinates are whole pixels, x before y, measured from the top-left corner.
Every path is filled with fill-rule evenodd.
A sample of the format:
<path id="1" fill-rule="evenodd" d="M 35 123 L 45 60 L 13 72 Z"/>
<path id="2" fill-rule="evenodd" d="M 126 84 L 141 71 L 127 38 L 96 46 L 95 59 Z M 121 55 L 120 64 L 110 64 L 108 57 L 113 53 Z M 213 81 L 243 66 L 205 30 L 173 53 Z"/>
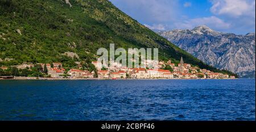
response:
<path id="1" fill-rule="evenodd" d="M 255 78 L 255 33 L 234 35 L 205 25 L 158 33 L 209 65 Z"/>

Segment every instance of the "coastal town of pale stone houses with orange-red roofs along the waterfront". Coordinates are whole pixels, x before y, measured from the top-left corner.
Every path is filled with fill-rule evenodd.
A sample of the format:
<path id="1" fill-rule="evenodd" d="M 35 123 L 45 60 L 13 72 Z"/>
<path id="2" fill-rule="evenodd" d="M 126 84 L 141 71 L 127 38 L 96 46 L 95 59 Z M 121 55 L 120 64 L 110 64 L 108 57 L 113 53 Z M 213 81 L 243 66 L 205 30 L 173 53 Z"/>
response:
<path id="1" fill-rule="evenodd" d="M 112 65 L 102 68 L 101 62 L 93 61 L 95 71 L 82 70 L 81 63 L 77 62 L 77 69 L 65 70 L 62 63 L 53 62 L 38 63 L 42 71 L 46 71 L 45 79 L 234 79 L 235 76 L 228 74 L 214 73 L 206 69 L 200 69 L 197 66 L 191 66 L 184 63 L 181 57 L 180 63 L 172 63 L 171 60 L 159 61 L 157 69 L 147 68 L 148 63 L 143 62 L 146 68 L 127 68 L 121 63 L 110 62 Z M 32 63 L 23 63 L 14 66 L 17 69 L 31 69 L 35 65 Z M 2 66 L 0 70 L 7 70 L 8 67 Z M 24 79 L 23 76 L 1 76 L 2 79 Z M 32 78 L 32 76 L 30 77 Z M 25 79 L 29 79 L 28 77 Z"/>

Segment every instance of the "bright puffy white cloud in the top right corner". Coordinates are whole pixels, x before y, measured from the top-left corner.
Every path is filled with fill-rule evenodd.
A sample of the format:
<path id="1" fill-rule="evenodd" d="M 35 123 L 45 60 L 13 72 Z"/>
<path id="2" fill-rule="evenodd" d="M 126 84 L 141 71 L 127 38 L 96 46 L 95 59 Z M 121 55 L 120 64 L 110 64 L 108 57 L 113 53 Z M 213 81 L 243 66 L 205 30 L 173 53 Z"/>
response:
<path id="1" fill-rule="evenodd" d="M 231 17 L 252 16 L 255 18 L 255 0 L 212 0 L 210 11 L 216 15 Z"/>

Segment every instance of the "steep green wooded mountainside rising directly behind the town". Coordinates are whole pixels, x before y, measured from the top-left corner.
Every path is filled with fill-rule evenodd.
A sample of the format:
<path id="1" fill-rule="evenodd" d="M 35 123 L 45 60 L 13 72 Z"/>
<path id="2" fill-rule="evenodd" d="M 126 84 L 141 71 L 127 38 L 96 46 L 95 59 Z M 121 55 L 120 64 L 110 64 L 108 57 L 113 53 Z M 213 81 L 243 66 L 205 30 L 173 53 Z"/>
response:
<path id="1" fill-rule="evenodd" d="M 76 61 L 88 66 L 97 49 L 114 43 L 159 48 L 159 59 L 178 63 L 182 56 L 185 63 L 234 75 L 206 65 L 106 0 L 0 0 L 0 20 L 0 66 L 62 62 L 69 69 Z"/>

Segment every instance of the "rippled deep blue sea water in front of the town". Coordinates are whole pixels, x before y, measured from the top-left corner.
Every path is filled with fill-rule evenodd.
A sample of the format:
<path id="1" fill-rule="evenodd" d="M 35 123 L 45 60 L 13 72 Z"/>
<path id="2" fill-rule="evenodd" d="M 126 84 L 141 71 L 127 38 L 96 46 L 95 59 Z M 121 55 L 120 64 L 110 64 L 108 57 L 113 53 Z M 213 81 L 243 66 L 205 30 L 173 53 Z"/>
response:
<path id="1" fill-rule="evenodd" d="M 0 120 L 255 120 L 255 80 L 0 80 Z"/>

